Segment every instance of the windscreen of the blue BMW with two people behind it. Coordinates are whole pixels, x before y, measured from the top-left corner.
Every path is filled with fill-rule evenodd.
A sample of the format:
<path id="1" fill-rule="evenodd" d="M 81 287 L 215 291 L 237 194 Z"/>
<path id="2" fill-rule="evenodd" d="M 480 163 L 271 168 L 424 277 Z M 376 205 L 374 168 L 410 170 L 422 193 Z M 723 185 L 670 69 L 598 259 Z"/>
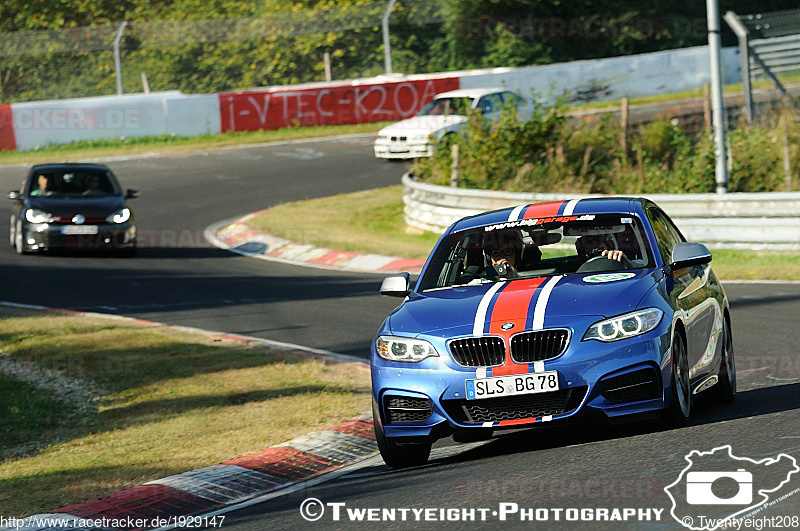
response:
<path id="1" fill-rule="evenodd" d="M 506 266 L 503 267 L 503 262 Z M 422 291 L 552 275 L 652 267 L 641 221 L 590 214 L 509 221 L 442 239 L 420 281 Z"/>

